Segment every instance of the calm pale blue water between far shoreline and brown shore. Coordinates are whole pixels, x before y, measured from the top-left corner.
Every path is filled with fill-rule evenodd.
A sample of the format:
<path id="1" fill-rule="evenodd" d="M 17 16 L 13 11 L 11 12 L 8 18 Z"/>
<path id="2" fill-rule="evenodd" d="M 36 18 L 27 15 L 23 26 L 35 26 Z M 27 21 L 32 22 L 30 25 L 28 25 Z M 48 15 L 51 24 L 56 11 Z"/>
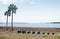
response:
<path id="1" fill-rule="evenodd" d="M 9 27 L 11 23 L 8 24 Z M 14 27 L 34 27 L 34 28 L 60 28 L 60 24 L 44 24 L 44 23 L 14 23 Z M 0 23 L 0 26 L 6 26 L 6 23 Z"/>

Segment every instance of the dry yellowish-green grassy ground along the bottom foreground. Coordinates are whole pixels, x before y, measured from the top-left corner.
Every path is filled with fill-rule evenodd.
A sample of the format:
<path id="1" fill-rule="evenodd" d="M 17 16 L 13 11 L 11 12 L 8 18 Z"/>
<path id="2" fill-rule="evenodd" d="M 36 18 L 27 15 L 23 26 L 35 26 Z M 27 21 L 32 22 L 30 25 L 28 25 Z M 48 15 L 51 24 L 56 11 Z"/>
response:
<path id="1" fill-rule="evenodd" d="M 16 31 L 0 31 L 0 39 L 60 39 L 58 35 L 20 34 Z"/>

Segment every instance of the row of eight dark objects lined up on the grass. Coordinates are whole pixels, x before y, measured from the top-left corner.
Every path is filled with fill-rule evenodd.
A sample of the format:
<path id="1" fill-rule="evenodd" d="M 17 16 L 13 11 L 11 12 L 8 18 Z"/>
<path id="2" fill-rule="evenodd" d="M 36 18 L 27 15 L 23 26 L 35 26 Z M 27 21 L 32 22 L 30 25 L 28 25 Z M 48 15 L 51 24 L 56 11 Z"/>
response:
<path id="1" fill-rule="evenodd" d="M 41 34 L 41 35 L 55 35 L 53 32 L 40 32 L 40 31 L 26 31 L 26 30 L 19 30 L 17 33 L 21 34 Z"/>

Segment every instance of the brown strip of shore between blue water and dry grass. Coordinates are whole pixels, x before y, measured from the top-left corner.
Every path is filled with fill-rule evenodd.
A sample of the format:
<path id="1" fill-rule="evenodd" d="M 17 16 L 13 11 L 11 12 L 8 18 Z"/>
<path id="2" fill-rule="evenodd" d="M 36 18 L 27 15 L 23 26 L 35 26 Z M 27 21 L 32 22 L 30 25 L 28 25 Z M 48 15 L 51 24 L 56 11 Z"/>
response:
<path id="1" fill-rule="evenodd" d="M 2 26 L 0 27 L 0 30 L 5 31 L 6 28 L 8 28 L 8 31 L 11 30 L 11 27 L 2 27 Z M 13 27 L 13 30 L 14 31 L 26 30 L 26 31 L 60 32 L 60 28 Z"/>

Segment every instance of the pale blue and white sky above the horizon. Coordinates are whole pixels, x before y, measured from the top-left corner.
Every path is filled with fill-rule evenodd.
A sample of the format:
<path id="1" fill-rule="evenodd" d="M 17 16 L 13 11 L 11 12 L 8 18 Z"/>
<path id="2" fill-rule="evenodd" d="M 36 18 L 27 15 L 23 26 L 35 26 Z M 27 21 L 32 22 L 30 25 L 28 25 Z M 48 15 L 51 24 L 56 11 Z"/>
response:
<path id="1" fill-rule="evenodd" d="M 12 3 L 18 8 L 14 22 L 60 22 L 60 0 L 0 0 L 0 22 L 6 22 L 4 13 Z"/>

